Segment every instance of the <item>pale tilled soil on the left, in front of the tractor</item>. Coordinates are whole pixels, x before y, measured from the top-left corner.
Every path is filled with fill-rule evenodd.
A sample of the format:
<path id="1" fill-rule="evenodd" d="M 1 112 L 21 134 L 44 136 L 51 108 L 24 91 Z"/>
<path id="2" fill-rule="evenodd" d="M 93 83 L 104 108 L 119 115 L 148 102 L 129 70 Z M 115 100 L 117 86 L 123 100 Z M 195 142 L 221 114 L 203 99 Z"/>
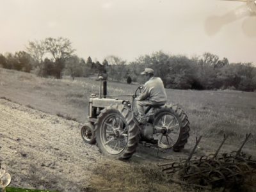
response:
<path id="1" fill-rule="evenodd" d="M 4 99 L 0 116 L 0 163 L 12 175 L 12 186 L 60 191 L 88 186 L 102 156 L 95 145 L 82 142 L 79 123 Z"/>

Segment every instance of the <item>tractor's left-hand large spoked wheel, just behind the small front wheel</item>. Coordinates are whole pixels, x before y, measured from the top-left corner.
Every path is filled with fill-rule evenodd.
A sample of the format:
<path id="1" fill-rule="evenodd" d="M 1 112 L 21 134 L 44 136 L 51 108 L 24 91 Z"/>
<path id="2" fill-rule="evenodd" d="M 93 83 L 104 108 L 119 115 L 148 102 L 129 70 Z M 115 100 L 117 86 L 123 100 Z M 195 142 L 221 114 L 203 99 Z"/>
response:
<path id="1" fill-rule="evenodd" d="M 103 109 L 97 117 L 96 141 L 106 156 L 129 159 L 139 141 L 139 127 L 131 109 L 122 104 Z"/>

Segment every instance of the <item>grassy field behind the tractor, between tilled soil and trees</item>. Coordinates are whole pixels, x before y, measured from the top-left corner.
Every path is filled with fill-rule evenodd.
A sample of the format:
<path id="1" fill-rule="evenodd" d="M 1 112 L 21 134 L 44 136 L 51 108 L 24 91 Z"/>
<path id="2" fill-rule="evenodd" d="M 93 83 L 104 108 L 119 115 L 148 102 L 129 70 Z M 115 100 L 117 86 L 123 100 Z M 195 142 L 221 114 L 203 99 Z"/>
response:
<path id="1" fill-rule="evenodd" d="M 109 95 L 134 93 L 136 84 L 108 82 Z M 241 138 L 252 132 L 256 143 L 256 93 L 239 91 L 166 90 L 168 102 L 186 111 L 192 134 L 219 138 L 224 133 Z M 88 99 L 99 93 L 99 81 L 90 78 L 46 79 L 0 69 L 0 97 L 6 97 L 52 115 L 85 122 Z M 124 97 L 131 99 L 130 97 Z"/>

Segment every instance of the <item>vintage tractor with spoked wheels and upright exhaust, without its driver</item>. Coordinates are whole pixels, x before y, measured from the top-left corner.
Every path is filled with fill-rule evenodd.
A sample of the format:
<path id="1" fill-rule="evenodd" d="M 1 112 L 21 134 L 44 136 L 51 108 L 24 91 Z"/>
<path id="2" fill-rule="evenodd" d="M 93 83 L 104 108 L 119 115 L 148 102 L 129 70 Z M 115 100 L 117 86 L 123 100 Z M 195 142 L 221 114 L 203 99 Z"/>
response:
<path id="1" fill-rule="evenodd" d="M 147 124 L 140 124 L 136 97 L 143 86 L 132 95 L 107 95 L 107 81 L 102 77 L 99 80 L 99 96 L 91 95 L 88 123 L 81 128 L 86 143 L 97 143 L 100 152 L 117 159 L 129 159 L 139 142 L 163 149 L 173 148 L 176 152 L 184 148 L 190 129 L 188 116 L 182 109 L 172 104 L 148 107 L 145 109 Z M 132 99 L 116 99 L 120 96 L 131 96 Z"/>

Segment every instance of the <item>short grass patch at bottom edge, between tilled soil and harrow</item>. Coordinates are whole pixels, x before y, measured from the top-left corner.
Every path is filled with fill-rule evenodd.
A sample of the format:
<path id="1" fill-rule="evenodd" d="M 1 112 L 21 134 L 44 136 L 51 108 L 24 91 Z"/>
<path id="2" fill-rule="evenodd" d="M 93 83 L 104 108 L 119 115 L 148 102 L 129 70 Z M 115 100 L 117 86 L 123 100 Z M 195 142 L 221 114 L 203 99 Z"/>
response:
<path id="1" fill-rule="evenodd" d="M 181 191 L 156 166 L 108 162 L 94 170 L 88 191 Z"/>

